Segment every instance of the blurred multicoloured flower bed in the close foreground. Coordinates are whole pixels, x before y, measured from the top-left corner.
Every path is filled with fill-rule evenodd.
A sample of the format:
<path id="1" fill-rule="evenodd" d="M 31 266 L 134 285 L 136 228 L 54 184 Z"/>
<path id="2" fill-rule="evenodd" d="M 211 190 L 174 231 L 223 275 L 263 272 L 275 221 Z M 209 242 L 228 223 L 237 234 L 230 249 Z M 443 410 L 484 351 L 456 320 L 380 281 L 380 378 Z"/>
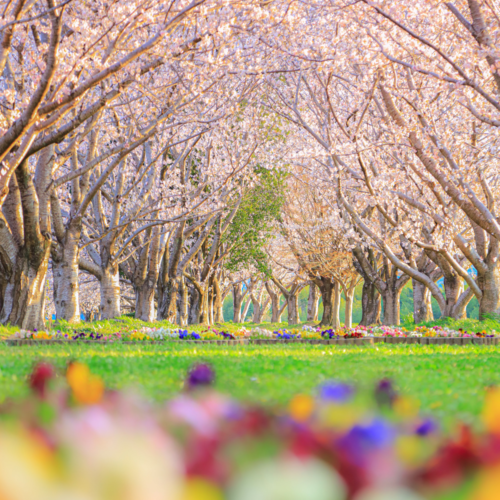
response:
<path id="1" fill-rule="evenodd" d="M 0 498 L 496 500 L 500 389 L 482 431 L 450 435 L 388 379 L 328 381 L 287 407 L 237 402 L 194 366 L 158 406 L 106 391 L 84 364 L 35 366 L 31 395 L 0 405 Z"/>

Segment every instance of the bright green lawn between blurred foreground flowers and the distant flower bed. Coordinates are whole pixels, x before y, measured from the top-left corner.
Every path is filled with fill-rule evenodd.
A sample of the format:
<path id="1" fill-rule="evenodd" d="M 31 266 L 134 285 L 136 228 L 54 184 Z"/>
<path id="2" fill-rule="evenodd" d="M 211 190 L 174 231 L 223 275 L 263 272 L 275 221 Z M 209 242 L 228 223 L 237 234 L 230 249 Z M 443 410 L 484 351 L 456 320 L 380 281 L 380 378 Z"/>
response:
<path id="1" fill-rule="evenodd" d="M 0 343 L 0 400 L 27 390 L 26 374 L 41 358 L 61 369 L 69 359 L 84 361 L 108 387 L 133 387 L 153 400 L 179 391 L 186 369 L 195 361 L 214 366 L 221 391 L 269 404 L 286 403 L 297 392 L 313 393 L 330 378 L 369 387 L 390 376 L 401 392 L 420 401 L 424 413 L 445 425 L 455 418 L 477 422 L 484 388 L 500 383 L 500 347 L 492 346 Z"/>

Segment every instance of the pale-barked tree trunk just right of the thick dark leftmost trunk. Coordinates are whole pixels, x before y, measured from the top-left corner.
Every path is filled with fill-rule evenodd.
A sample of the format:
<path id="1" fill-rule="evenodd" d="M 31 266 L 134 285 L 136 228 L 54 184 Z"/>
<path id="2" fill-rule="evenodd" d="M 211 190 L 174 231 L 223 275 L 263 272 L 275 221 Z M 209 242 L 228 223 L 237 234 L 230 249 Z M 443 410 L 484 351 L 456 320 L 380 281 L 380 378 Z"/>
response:
<path id="1" fill-rule="evenodd" d="M 78 296 L 78 239 L 80 231 L 67 229 L 63 241 L 52 251 L 55 320 L 80 321 Z"/>

